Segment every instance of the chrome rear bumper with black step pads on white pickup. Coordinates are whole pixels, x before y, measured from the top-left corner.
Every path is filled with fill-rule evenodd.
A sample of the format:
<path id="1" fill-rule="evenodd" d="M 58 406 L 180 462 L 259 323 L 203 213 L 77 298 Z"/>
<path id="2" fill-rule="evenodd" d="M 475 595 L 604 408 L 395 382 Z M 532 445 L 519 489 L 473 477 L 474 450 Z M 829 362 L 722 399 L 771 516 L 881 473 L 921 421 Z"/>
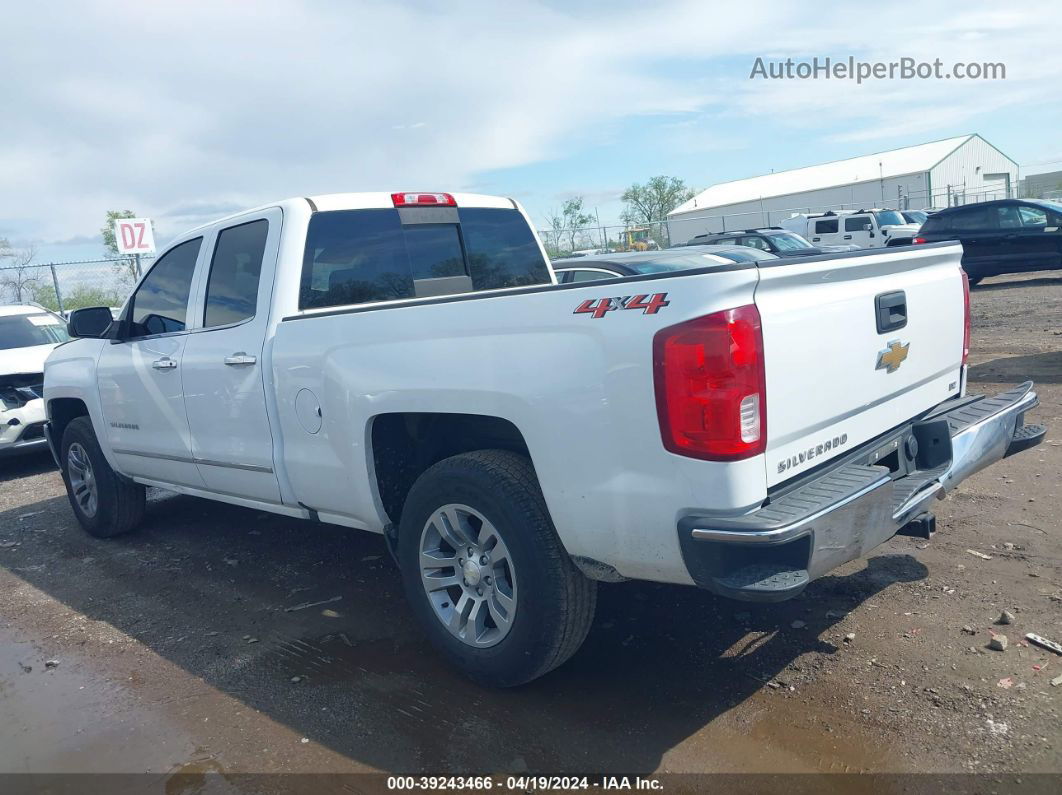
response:
<path id="1" fill-rule="evenodd" d="M 1040 444 L 1045 429 L 1024 424 L 1025 412 L 1038 402 L 1031 381 L 956 408 L 948 401 L 883 437 L 919 435 L 936 446 L 919 454 L 928 460 L 924 468 L 897 477 L 884 466 L 851 461 L 752 514 L 686 517 L 679 523 L 686 567 L 698 585 L 724 595 L 794 597 L 811 580 L 887 541 L 970 476 Z"/>

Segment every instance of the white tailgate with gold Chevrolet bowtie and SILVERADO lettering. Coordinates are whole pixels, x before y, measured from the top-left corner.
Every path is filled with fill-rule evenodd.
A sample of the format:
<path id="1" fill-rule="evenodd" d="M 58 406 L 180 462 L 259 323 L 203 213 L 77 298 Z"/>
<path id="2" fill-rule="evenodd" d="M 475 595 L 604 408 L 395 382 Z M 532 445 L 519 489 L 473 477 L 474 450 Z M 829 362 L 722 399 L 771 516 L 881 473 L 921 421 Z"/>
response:
<path id="1" fill-rule="evenodd" d="M 959 394 L 961 256 L 948 244 L 760 266 L 768 486 Z M 895 305 L 884 331 L 879 304 Z"/>

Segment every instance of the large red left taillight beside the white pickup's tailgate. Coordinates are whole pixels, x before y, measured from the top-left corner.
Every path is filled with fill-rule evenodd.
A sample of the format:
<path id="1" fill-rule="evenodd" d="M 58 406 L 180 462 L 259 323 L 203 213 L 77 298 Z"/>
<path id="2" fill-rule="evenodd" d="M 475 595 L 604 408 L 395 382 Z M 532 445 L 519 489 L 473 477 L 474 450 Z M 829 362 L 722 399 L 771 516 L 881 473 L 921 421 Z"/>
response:
<path id="1" fill-rule="evenodd" d="M 707 461 L 737 461 L 764 451 L 764 336 L 755 306 L 657 331 L 653 370 L 665 448 Z"/>

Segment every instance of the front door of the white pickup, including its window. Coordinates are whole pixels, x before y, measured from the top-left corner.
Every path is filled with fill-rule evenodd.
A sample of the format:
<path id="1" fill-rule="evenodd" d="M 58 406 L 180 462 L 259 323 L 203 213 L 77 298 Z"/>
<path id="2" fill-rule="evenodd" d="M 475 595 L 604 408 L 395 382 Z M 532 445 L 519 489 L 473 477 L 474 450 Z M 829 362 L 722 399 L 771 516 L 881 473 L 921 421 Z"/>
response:
<path id="1" fill-rule="evenodd" d="M 156 260 L 130 298 L 121 340 L 97 364 L 107 442 L 130 476 L 185 486 L 203 481 L 192 462 L 182 380 L 189 296 L 202 238 Z"/>

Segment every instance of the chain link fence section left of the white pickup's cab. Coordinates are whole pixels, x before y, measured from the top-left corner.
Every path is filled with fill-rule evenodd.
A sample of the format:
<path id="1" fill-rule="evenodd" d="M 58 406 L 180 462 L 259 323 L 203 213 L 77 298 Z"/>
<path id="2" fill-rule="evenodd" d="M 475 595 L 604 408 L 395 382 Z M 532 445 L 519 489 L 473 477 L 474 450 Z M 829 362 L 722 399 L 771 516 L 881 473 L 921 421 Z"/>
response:
<path id="1" fill-rule="evenodd" d="M 66 313 L 84 307 L 120 307 L 151 257 L 29 262 L 0 260 L 0 304 L 38 304 Z"/>

